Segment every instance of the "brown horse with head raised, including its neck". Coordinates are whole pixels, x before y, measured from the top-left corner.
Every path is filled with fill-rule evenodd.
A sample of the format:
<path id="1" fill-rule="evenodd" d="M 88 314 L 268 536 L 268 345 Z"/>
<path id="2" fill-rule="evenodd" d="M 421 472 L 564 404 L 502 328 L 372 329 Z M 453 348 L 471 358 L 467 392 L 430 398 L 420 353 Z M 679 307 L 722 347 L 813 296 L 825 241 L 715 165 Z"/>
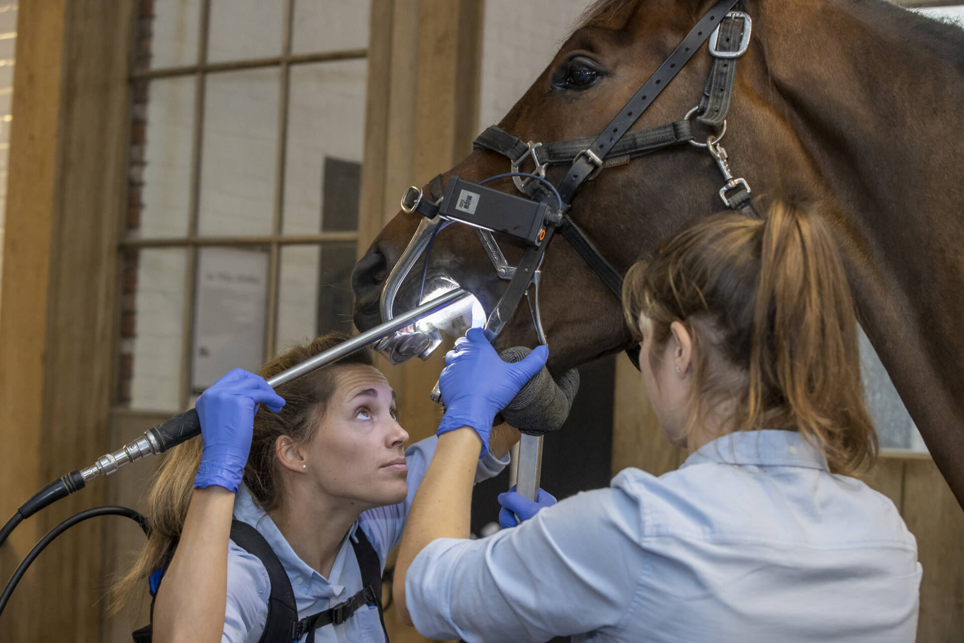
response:
<path id="1" fill-rule="evenodd" d="M 522 141 L 598 135 L 711 4 L 597 3 L 499 125 Z M 752 16 L 753 33 L 724 141 L 734 173 L 755 194 L 815 202 L 835 228 L 860 321 L 964 505 L 964 146 L 954 134 L 964 120 L 964 32 L 883 0 L 743 0 L 737 9 Z M 681 120 L 710 64 L 704 46 L 633 129 Z M 507 171 L 504 157 L 475 150 L 445 180 Z M 604 169 L 571 215 L 625 272 L 687 220 L 720 210 L 722 183 L 706 149 L 668 147 Z M 509 180 L 494 185 L 518 194 Z M 356 267 L 360 328 L 380 321 L 379 293 L 418 218 L 399 213 Z M 519 245 L 500 244 L 510 263 L 519 259 Z M 487 308 L 506 283 L 466 226 L 442 232 L 431 271 Z M 619 302 L 562 239 L 549 247 L 540 299 L 553 371 L 629 346 Z M 500 346 L 535 342 L 521 308 Z"/>

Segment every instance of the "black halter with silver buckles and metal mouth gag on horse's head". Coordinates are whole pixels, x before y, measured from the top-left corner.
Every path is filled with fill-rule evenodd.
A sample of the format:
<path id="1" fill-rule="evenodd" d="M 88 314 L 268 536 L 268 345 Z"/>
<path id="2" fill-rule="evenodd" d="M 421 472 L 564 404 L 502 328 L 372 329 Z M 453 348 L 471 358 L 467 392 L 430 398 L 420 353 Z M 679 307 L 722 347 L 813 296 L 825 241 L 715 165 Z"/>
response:
<path id="1" fill-rule="evenodd" d="M 750 199 L 749 185 L 744 179 L 732 174 L 726 149 L 720 146 L 720 140 L 726 132 L 726 115 L 733 95 L 736 60 L 746 52 L 752 29 L 749 15 L 731 11 L 737 2 L 738 0 L 720 0 L 713 5 L 595 139 L 580 138 L 553 143 L 523 142 L 503 129 L 492 126 L 475 139 L 473 147 L 495 151 L 508 157 L 510 173 L 492 176 L 481 183 L 471 183 L 453 175 L 447 186 L 442 186 L 441 175 L 436 176 L 429 183 L 429 187 L 438 201 L 427 199 L 421 188 L 410 187 L 402 197 L 402 210 L 417 212 L 424 219 L 388 276 L 381 299 L 383 320 L 391 319 L 395 296 L 418 256 L 450 221 L 476 228 L 496 275 L 499 279 L 509 281 L 486 323 L 486 329 L 493 338 L 502 331 L 525 296 L 539 341 L 546 343 L 538 303 L 540 267 L 549 242 L 556 232 L 570 242 L 600 280 L 620 298 L 622 274 L 576 226 L 569 216 L 569 206 L 586 181 L 593 180 L 604 169 L 628 163 L 663 147 L 683 143 L 706 147 L 726 181 L 719 192 L 724 204 L 743 214 L 759 217 Z M 630 132 L 629 127 L 653 104 L 656 96 L 676 77 L 706 40 L 710 40 L 713 67 L 699 104 L 690 110 L 682 121 Z M 706 143 L 698 143 L 691 128 L 691 118 L 694 115 L 705 125 L 721 127 L 721 131 L 710 136 Z M 533 165 L 532 172 L 520 172 L 523 164 L 527 162 Z M 557 187 L 545 178 L 546 169 L 555 165 L 570 166 Z M 512 176 L 516 186 L 528 199 L 513 197 L 483 185 L 503 176 Z M 525 242 L 525 251 L 518 266 L 510 266 L 506 262 L 495 242 L 493 232 L 508 234 Z M 530 286 L 535 289 L 531 298 L 528 297 Z M 391 337 L 377 348 L 395 363 L 415 354 L 425 359 L 435 348 L 432 345 L 423 352 L 406 352 L 399 350 L 401 341 L 402 338 Z M 425 345 L 429 346 L 431 343 L 426 341 Z M 630 355 L 630 358 L 632 357 Z"/>

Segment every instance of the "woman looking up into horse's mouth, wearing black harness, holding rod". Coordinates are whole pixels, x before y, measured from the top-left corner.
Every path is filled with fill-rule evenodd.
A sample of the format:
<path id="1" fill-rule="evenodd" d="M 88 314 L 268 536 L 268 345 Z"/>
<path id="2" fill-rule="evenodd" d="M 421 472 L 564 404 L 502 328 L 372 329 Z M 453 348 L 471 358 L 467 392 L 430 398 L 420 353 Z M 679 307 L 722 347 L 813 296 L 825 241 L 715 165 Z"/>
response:
<path id="1" fill-rule="evenodd" d="M 135 640 L 387 639 L 381 576 L 437 438 L 406 450 L 394 391 L 367 349 L 277 390 L 264 380 L 346 339 L 318 337 L 260 375 L 235 369 L 201 395 L 201 440 L 165 456 L 147 545 L 113 591 L 117 609 L 149 576 L 153 631 Z M 527 381 L 542 362 L 511 366 Z M 503 469 L 518 438 L 493 429 L 473 478 Z"/>

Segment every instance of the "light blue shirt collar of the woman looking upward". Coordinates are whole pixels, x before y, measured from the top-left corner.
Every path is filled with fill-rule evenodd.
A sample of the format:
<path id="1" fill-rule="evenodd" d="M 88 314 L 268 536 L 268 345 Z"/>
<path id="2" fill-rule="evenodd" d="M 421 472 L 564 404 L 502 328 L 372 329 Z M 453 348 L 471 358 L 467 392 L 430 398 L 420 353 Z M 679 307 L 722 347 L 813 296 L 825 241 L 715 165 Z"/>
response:
<path id="1" fill-rule="evenodd" d="M 344 591 L 344 583 L 338 581 L 341 579 L 348 554 L 348 539 L 352 538 L 355 540 L 355 530 L 359 525 L 358 521 L 352 524 L 345 539 L 341 542 L 341 549 L 338 549 L 335 564 L 332 566 L 332 573 L 326 578 L 318 574 L 318 572 L 312 569 L 308 563 L 295 553 L 294 549 L 291 549 L 288 541 L 285 540 L 284 535 L 281 534 L 281 529 L 279 529 L 278 525 L 265 513 L 244 483 L 238 486 L 237 496 L 234 497 L 234 519 L 247 522 L 252 525 L 259 534 L 264 536 L 264 539 L 268 541 L 271 549 L 274 549 L 278 560 L 281 561 L 281 567 L 284 568 L 287 575 L 292 578 L 302 576 L 305 579 L 305 591 L 310 591 L 310 594 L 314 598 L 332 598 L 340 596 Z M 310 588 L 310 590 L 308 590 L 308 588 Z M 296 592 L 298 591 L 297 586 L 294 589 Z"/>

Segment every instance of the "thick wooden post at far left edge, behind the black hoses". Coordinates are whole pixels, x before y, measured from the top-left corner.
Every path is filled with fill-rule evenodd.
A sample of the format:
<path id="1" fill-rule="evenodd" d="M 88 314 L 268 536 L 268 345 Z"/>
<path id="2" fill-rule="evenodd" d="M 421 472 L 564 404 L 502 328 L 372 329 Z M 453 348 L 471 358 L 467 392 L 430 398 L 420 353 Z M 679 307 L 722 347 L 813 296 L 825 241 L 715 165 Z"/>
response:
<path id="1" fill-rule="evenodd" d="M 132 8 L 19 6 L 0 303 L 3 520 L 108 448 Z M 50 527 L 101 496 L 94 482 L 23 522 L 0 550 L 3 577 Z M 43 551 L 0 619 L 5 640 L 96 640 L 103 527 L 84 522 Z"/>

